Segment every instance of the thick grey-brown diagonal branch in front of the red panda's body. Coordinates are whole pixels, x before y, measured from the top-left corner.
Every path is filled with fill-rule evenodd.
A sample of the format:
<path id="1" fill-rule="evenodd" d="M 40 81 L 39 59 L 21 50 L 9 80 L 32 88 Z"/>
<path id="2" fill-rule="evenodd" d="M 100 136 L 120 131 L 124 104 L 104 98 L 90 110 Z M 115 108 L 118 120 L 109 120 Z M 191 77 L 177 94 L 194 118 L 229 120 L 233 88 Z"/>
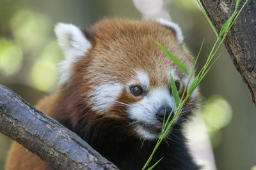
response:
<path id="1" fill-rule="evenodd" d="M 118 169 L 74 132 L 0 85 L 0 132 L 55 169 Z"/>

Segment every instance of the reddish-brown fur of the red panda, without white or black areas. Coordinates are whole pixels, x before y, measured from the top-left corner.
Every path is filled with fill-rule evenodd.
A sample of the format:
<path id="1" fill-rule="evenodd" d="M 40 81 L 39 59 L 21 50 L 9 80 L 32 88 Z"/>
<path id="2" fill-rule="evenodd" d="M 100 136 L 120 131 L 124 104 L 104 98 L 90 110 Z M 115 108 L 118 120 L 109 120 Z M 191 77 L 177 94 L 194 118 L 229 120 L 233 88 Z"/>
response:
<path id="1" fill-rule="evenodd" d="M 36 108 L 47 115 L 63 122 L 68 118 L 73 125 L 81 120 L 91 122 L 104 121 L 104 117 L 125 120 L 121 106 L 113 106 L 104 117 L 92 111 L 93 102 L 90 94 L 100 82 L 116 81 L 126 85 L 134 80 L 134 69 L 142 69 L 148 74 L 150 87 L 170 86 L 166 71 L 173 67 L 180 78 L 185 76 L 156 45 L 158 41 L 170 50 L 177 59 L 191 67 L 193 57 L 189 55 L 183 43 L 175 38 L 175 32 L 156 22 L 138 22 L 134 20 L 105 19 L 93 25 L 86 36 L 90 36 L 92 50 L 84 59 L 74 64 L 74 75 L 61 86 L 56 94 L 45 98 Z M 172 41 L 170 41 L 172 40 Z M 126 89 L 118 101 L 134 103 L 142 97 L 134 97 Z M 116 117 L 111 117 L 115 115 Z M 86 128 L 86 127 L 85 127 Z M 48 166 L 36 155 L 26 152 L 17 143 L 12 144 L 6 169 L 47 169 Z"/>

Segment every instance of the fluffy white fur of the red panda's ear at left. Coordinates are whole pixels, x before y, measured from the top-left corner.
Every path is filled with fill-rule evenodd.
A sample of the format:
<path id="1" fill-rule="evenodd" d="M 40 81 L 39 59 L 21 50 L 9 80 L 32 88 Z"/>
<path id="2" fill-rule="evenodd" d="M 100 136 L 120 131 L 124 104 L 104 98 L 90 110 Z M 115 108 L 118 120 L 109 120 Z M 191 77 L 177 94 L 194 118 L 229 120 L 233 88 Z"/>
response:
<path id="1" fill-rule="evenodd" d="M 90 41 L 86 39 L 81 29 L 72 24 L 59 23 L 56 25 L 55 34 L 58 43 L 63 49 L 65 60 L 59 64 L 59 73 L 61 75 L 60 84 L 72 76 L 72 64 L 92 47 Z"/>

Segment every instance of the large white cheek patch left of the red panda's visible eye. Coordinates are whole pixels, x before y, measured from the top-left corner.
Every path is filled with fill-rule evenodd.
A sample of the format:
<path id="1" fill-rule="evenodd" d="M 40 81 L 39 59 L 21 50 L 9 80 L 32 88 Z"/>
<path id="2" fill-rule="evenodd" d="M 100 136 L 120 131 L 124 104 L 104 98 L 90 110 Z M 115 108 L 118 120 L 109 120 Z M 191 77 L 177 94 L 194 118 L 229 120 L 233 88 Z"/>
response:
<path id="1" fill-rule="evenodd" d="M 92 94 L 93 108 L 98 113 L 106 113 L 116 103 L 116 99 L 122 93 L 123 85 L 120 83 L 104 83 L 94 87 Z"/>

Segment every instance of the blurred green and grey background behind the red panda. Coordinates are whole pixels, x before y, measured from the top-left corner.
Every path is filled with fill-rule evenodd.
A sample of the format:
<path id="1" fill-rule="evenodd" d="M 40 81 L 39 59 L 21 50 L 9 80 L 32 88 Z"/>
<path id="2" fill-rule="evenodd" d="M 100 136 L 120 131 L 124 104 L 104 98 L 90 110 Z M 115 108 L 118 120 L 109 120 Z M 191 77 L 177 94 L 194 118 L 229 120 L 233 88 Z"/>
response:
<path id="1" fill-rule="evenodd" d="M 54 25 L 67 22 L 86 28 L 104 17 L 172 19 L 193 55 L 205 38 L 199 66 L 215 41 L 194 0 L 1 0 L 0 83 L 36 104 L 58 84 L 56 66 L 63 53 Z M 256 164 L 256 108 L 224 46 L 220 53 L 200 85 L 202 107 L 186 129 L 189 146 L 205 169 L 250 169 Z M 0 134 L 0 170 L 10 142 Z"/>

